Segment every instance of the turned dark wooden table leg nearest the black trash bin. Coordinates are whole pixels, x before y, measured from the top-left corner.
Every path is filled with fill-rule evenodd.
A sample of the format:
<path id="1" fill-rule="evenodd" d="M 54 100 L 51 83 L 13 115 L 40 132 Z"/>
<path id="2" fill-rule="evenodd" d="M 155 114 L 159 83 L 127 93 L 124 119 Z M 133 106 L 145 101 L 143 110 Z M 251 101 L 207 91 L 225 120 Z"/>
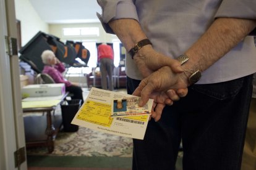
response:
<path id="1" fill-rule="evenodd" d="M 48 152 L 51 153 L 54 150 L 54 141 L 53 141 L 53 136 L 56 132 L 55 127 L 53 126 L 53 123 L 51 121 L 51 111 L 47 111 L 47 127 L 45 130 L 45 134 L 48 136 L 47 137 L 47 147 L 48 147 Z"/>

